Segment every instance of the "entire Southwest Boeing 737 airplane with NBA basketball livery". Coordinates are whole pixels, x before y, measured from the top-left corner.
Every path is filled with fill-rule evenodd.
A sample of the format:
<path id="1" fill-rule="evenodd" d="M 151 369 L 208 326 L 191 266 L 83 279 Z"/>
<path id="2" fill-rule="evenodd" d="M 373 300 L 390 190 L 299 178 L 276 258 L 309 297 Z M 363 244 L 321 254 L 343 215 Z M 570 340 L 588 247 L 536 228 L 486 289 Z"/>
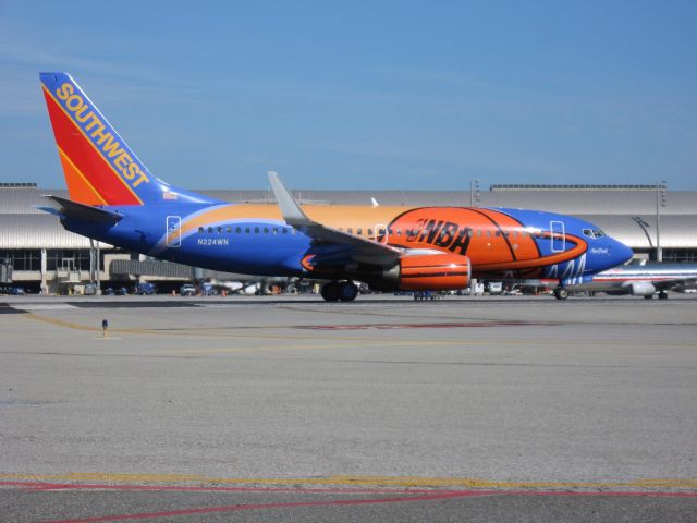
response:
<path id="1" fill-rule="evenodd" d="M 632 257 L 591 223 L 535 210 L 230 204 L 155 178 L 66 73 L 40 73 L 70 199 L 69 231 L 148 256 L 229 272 L 328 280 L 327 301 L 376 290 L 456 290 L 470 278 L 553 278 L 555 295 Z"/>

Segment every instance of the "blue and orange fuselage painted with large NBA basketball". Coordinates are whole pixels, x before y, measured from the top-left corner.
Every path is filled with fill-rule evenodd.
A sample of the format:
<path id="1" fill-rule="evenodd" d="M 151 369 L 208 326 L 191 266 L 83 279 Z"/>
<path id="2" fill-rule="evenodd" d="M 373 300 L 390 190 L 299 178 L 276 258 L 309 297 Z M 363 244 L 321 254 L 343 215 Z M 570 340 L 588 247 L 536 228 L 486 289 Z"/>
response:
<path id="1" fill-rule="evenodd" d="M 249 275 L 357 278 L 341 246 L 314 242 L 272 204 L 110 206 L 115 224 L 64 219 L 70 230 L 154 257 Z M 467 207 L 303 206 L 327 227 L 424 253 L 467 256 L 475 278 L 573 282 L 622 263 L 627 248 L 583 220 L 531 210 Z M 320 256 L 321 269 L 308 257 Z M 331 270 L 327 272 L 327 267 Z"/>

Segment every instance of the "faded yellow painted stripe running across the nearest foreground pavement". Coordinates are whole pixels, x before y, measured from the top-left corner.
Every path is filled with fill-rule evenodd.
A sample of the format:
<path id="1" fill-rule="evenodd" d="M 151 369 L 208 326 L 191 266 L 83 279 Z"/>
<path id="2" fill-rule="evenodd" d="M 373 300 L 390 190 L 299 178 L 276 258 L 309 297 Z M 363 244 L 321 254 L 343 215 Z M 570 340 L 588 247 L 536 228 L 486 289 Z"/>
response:
<path id="1" fill-rule="evenodd" d="M 198 484 L 198 485 L 332 485 L 357 487 L 437 488 L 460 487 L 475 489 L 675 489 L 697 495 L 697 478 L 643 478 L 626 482 L 543 482 L 496 481 L 475 477 L 421 477 L 421 476 L 355 476 L 332 475 L 320 477 L 209 477 L 198 474 L 118 474 L 78 473 L 65 474 L 0 474 L 2 479 L 34 482 L 103 482 L 105 484 Z"/>

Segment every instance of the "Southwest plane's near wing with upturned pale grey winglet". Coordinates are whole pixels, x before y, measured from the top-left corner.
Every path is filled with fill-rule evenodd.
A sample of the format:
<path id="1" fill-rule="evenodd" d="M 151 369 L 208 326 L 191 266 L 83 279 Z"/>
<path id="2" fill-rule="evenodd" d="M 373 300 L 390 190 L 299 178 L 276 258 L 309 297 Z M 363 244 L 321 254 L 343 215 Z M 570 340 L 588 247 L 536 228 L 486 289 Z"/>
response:
<path id="1" fill-rule="evenodd" d="M 268 175 L 285 222 L 307 234 L 318 244 L 348 247 L 351 259 L 376 265 L 393 264 L 404 255 L 402 251 L 390 245 L 378 243 L 367 238 L 354 236 L 311 220 L 293 195 L 285 188 L 279 175 L 273 171 L 269 171 Z"/>

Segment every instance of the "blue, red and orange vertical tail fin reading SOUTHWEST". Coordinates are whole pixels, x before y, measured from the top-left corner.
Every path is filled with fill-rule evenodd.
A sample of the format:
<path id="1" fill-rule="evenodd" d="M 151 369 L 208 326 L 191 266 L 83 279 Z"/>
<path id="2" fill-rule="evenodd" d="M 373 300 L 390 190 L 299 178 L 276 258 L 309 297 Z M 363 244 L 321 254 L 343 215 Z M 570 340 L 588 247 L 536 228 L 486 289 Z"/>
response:
<path id="1" fill-rule="evenodd" d="M 68 73 L 39 73 L 70 198 L 86 205 L 215 202 L 155 178 Z"/>

